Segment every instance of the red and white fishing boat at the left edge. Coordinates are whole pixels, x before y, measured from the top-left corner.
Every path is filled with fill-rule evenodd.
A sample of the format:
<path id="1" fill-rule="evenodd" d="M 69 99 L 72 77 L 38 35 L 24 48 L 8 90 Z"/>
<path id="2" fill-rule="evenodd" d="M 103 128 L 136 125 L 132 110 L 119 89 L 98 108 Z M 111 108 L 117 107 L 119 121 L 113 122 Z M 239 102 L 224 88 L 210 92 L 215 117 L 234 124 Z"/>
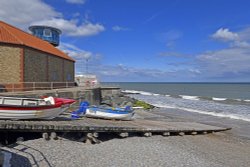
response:
<path id="1" fill-rule="evenodd" d="M 53 119 L 66 111 L 73 99 L 0 97 L 0 119 Z"/>

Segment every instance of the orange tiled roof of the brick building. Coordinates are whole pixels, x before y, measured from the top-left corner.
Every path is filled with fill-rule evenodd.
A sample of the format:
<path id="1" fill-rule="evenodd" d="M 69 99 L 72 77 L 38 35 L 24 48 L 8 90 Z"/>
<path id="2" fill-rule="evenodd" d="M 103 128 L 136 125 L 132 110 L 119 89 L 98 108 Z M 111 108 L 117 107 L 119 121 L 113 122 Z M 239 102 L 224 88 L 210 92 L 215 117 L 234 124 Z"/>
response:
<path id="1" fill-rule="evenodd" d="M 0 43 L 1 42 L 27 46 L 70 61 L 75 61 L 67 54 L 55 48 L 49 42 L 37 38 L 3 21 L 0 21 Z"/>

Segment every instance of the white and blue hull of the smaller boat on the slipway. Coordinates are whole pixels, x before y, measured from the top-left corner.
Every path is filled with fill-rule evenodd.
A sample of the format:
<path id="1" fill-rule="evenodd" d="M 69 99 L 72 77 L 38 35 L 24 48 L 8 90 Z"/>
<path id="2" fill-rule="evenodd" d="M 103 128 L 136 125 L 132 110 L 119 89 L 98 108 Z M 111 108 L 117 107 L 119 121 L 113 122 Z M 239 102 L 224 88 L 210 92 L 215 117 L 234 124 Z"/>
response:
<path id="1" fill-rule="evenodd" d="M 101 109 L 86 109 L 85 116 L 92 118 L 103 118 L 103 119 L 117 119 L 117 120 L 131 120 L 134 112 L 121 112 L 115 110 L 101 110 Z"/>

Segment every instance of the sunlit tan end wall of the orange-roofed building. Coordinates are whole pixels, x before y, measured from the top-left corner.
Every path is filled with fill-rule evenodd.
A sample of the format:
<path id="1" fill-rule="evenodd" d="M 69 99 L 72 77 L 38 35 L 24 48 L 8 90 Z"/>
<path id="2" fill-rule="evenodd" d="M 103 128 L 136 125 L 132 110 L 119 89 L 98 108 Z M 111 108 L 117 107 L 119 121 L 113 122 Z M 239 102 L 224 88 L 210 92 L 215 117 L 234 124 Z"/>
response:
<path id="1" fill-rule="evenodd" d="M 0 44 L 0 83 L 21 81 L 21 49 Z"/>

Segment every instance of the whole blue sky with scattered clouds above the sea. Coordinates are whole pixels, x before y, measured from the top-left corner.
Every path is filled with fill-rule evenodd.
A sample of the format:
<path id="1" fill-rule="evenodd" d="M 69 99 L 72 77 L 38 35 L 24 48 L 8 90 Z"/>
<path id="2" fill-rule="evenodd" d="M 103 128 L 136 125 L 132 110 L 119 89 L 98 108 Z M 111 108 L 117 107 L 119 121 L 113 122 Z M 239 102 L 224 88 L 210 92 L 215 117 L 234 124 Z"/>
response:
<path id="1" fill-rule="evenodd" d="M 250 82 L 248 0 L 1 0 L 0 19 L 62 30 L 101 81 Z"/>

